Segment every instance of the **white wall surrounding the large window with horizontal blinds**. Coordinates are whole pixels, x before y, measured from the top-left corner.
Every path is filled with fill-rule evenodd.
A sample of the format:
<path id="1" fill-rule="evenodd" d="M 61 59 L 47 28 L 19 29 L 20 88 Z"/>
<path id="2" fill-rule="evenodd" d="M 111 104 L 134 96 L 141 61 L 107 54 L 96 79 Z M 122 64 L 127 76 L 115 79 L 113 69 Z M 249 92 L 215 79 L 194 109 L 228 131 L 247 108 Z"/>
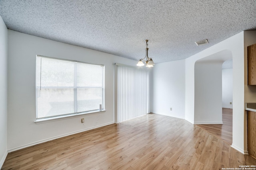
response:
<path id="1" fill-rule="evenodd" d="M 36 124 L 36 55 L 105 65 L 106 112 Z M 125 59 L 8 30 L 8 151 L 114 123 L 114 63 Z M 85 123 L 80 123 L 84 118 Z"/>

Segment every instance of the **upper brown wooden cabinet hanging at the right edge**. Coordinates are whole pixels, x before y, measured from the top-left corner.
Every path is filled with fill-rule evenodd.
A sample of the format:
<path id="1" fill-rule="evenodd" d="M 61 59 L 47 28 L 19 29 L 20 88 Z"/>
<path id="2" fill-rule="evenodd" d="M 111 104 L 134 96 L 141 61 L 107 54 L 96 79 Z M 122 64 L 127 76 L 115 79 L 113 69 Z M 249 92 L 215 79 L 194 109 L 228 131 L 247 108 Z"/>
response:
<path id="1" fill-rule="evenodd" d="M 247 47 L 248 85 L 256 85 L 256 44 Z"/>

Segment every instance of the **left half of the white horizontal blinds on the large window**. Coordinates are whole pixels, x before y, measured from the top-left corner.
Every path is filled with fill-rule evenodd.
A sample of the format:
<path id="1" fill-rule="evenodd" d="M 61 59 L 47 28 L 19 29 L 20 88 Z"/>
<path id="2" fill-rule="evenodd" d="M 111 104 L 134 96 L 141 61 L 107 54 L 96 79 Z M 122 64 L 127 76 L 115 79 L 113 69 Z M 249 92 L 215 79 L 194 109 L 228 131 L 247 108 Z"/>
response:
<path id="1" fill-rule="evenodd" d="M 74 63 L 36 60 L 37 118 L 74 113 Z"/>

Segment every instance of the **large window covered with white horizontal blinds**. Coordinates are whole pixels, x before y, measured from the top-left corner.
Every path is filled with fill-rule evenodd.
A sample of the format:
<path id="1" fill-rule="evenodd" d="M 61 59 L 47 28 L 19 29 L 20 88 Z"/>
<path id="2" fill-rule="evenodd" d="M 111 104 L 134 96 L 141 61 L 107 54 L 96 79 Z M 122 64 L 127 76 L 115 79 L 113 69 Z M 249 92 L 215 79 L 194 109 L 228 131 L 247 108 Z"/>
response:
<path id="1" fill-rule="evenodd" d="M 104 109 L 104 65 L 36 56 L 36 119 Z"/>

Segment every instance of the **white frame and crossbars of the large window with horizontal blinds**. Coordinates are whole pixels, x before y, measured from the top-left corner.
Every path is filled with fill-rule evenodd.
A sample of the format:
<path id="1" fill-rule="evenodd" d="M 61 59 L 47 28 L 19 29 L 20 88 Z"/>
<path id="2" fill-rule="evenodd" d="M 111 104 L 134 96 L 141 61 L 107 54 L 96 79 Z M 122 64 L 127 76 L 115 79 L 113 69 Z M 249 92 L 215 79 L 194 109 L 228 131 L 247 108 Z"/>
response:
<path id="1" fill-rule="evenodd" d="M 95 86 L 93 88 L 100 88 L 102 89 L 102 109 L 93 109 L 93 110 L 86 110 L 86 111 L 77 111 L 78 107 L 77 107 L 77 101 L 78 101 L 78 96 L 77 96 L 77 89 L 78 88 L 84 88 L 84 89 L 88 89 L 90 88 L 89 86 L 77 86 L 77 76 L 78 74 L 74 74 L 74 84 L 71 87 L 72 89 L 74 89 L 74 113 L 67 113 L 67 114 L 60 114 L 60 115 L 54 115 L 54 116 L 48 116 L 48 117 L 39 117 L 38 118 L 38 88 L 41 88 L 41 85 L 38 86 L 37 84 L 37 67 L 38 64 L 36 63 L 36 120 L 34 121 L 35 123 L 44 123 L 44 122 L 49 122 L 49 121 L 56 121 L 56 120 L 62 120 L 62 119 L 69 119 L 71 117 L 79 117 L 79 116 L 84 116 L 84 115 L 92 115 L 92 114 L 98 114 L 98 113 L 104 113 L 105 110 L 105 65 L 103 64 L 92 64 L 92 63 L 86 63 L 86 62 L 82 62 L 82 61 L 75 61 L 75 60 L 69 60 L 69 59 L 61 59 L 61 58 L 56 58 L 56 57 L 48 57 L 48 56 L 43 56 L 43 55 L 36 55 L 36 61 L 38 59 L 38 57 L 40 58 L 48 58 L 48 59 L 56 59 L 56 60 L 61 60 L 61 61 L 70 61 L 74 64 L 74 70 L 76 70 L 76 66 L 78 63 L 83 63 L 83 64 L 89 64 L 89 65 L 96 65 L 96 66 L 101 66 L 103 67 L 102 70 L 102 86 Z M 40 64 L 41 66 L 41 64 Z M 41 69 L 41 68 L 40 68 Z M 40 70 L 41 71 L 41 70 Z M 40 73 L 41 74 L 41 73 Z M 41 80 L 40 80 L 41 81 Z M 44 87 L 45 88 L 45 87 Z M 55 86 L 51 86 L 48 87 L 48 89 L 57 89 L 60 87 L 55 87 Z M 64 86 L 62 88 L 70 88 L 70 86 Z M 47 89 L 47 88 L 45 88 Z"/>

